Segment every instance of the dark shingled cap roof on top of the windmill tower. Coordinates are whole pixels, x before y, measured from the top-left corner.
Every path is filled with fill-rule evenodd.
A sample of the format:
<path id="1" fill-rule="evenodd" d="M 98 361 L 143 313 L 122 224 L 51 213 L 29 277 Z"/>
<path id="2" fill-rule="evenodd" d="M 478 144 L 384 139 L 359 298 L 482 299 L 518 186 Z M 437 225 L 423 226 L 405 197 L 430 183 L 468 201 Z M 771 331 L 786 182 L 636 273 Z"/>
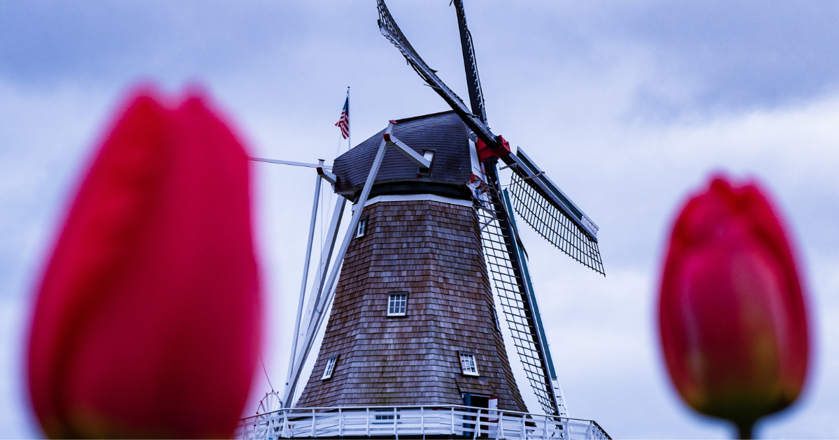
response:
<path id="1" fill-rule="evenodd" d="M 468 149 L 471 132 L 454 111 L 415 116 L 397 122 L 393 126 L 393 136 L 414 148 L 417 153 L 430 150 L 435 152 L 430 174 L 421 176 L 416 164 L 395 148 L 388 148 L 382 167 L 378 170 L 374 189 L 376 185 L 394 182 L 415 182 L 416 188 L 425 188 L 429 183 L 437 187 L 465 187 L 472 177 Z M 367 173 L 373 166 L 383 133 L 384 130 L 376 133 L 335 159 L 332 173 L 338 177 L 336 193 L 348 199 L 355 198 L 367 180 Z"/>

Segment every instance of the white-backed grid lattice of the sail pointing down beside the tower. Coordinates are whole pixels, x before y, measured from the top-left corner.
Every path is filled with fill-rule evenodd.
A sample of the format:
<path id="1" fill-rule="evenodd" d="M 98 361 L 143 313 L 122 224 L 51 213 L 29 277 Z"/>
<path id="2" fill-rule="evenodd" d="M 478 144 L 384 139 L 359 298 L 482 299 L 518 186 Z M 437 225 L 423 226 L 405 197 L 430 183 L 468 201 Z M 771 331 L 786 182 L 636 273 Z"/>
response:
<path id="1" fill-rule="evenodd" d="M 503 235 L 496 211 L 498 205 L 492 203 L 500 200 L 498 191 L 487 185 L 487 193 L 482 195 L 485 195 L 486 199 L 474 199 L 474 206 L 481 225 L 483 253 L 492 287 L 507 319 L 516 353 L 524 367 L 524 374 L 542 410 L 545 414 L 557 415 L 550 375 L 539 346 L 539 334 L 530 312 L 524 279 L 519 267 L 513 263 L 513 250 L 508 246 L 509 237 L 505 238 Z"/>

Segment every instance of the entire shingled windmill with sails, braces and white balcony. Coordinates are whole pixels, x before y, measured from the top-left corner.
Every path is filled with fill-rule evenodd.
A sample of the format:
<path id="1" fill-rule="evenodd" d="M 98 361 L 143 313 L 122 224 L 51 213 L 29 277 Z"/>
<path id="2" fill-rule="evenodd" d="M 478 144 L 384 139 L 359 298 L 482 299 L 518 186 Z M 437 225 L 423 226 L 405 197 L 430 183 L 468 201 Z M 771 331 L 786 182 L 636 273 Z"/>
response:
<path id="1" fill-rule="evenodd" d="M 331 168 L 304 164 L 319 178 L 285 408 L 253 419 L 253 431 L 246 419 L 240 437 L 571 438 L 575 427 L 582 437 L 608 437 L 597 423 L 568 417 L 513 213 L 605 275 L 597 225 L 521 148 L 512 153 L 487 126 L 472 36 L 462 0 L 453 3 L 470 106 L 377 2 L 381 33 L 451 111 L 390 121 Z M 512 171 L 509 190 L 499 182 L 499 161 Z M 342 197 L 304 308 L 322 180 Z M 339 245 L 347 201 L 352 218 Z M 543 415 L 526 412 L 496 305 Z M 292 405 L 330 309 L 315 365 Z"/>

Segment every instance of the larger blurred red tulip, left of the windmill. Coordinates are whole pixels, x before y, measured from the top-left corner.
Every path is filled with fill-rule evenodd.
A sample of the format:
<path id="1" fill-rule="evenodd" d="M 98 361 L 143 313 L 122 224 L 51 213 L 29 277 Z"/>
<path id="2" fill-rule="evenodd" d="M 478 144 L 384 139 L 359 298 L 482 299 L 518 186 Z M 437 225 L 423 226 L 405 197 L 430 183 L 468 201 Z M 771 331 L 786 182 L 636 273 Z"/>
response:
<path id="1" fill-rule="evenodd" d="M 29 390 L 50 437 L 226 437 L 259 348 L 248 162 L 198 97 L 136 97 L 38 292 Z"/>

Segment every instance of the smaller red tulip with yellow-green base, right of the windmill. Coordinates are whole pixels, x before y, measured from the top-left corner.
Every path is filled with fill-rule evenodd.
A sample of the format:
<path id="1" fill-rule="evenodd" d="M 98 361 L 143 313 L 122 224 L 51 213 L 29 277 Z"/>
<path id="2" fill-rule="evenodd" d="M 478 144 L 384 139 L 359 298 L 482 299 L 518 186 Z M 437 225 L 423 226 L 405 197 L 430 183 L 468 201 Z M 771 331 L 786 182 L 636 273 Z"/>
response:
<path id="1" fill-rule="evenodd" d="M 717 178 L 688 200 L 664 263 L 659 328 L 681 396 L 742 436 L 795 401 L 808 364 L 805 303 L 784 227 L 758 186 Z"/>

